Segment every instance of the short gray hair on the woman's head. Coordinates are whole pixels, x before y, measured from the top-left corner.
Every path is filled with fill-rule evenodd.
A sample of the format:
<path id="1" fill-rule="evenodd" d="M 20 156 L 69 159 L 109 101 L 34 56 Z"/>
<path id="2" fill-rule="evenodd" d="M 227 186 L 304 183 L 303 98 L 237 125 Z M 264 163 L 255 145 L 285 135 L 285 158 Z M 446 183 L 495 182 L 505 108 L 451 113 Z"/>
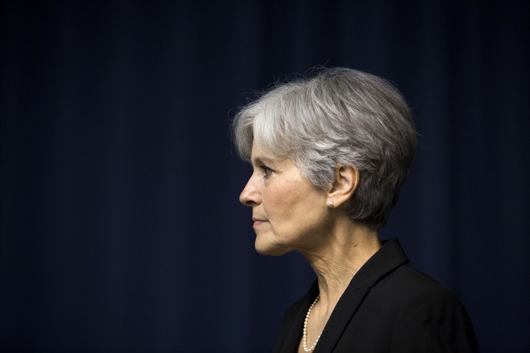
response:
<path id="1" fill-rule="evenodd" d="M 357 168 L 360 181 L 349 217 L 377 228 L 398 201 L 416 152 L 411 110 L 384 79 L 349 68 L 276 84 L 236 113 L 234 142 L 250 161 L 252 143 L 289 158 L 315 187 L 328 190 L 338 164 Z"/>

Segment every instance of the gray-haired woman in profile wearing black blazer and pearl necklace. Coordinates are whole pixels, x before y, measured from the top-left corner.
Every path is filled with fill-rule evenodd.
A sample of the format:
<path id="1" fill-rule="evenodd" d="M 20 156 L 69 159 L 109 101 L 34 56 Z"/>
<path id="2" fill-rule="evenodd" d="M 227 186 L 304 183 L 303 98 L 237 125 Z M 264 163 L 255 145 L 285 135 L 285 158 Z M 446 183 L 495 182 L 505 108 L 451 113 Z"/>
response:
<path id="1" fill-rule="evenodd" d="M 253 173 L 256 250 L 299 251 L 317 274 L 285 315 L 275 352 L 477 352 L 460 301 L 380 242 L 416 150 L 391 84 L 347 68 L 276 86 L 237 113 Z"/>

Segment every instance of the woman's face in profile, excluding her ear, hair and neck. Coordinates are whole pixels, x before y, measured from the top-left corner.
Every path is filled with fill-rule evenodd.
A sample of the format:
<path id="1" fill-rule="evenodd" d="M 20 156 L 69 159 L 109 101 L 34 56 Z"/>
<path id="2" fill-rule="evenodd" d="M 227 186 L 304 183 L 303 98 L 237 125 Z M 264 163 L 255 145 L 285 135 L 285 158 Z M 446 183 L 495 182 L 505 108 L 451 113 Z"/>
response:
<path id="1" fill-rule="evenodd" d="M 289 159 L 275 160 L 254 144 L 253 173 L 239 200 L 252 207 L 256 250 L 267 255 L 310 251 L 328 228 L 327 194 L 304 178 Z"/>

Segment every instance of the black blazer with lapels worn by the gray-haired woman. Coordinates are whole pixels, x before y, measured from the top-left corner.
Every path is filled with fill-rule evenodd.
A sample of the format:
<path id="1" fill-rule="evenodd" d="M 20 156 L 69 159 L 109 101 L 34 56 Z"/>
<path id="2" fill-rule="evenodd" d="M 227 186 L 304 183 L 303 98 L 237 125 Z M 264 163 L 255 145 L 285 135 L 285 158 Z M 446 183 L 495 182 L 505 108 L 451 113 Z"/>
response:
<path id="1" fill-rule="evenodd" d="M 397 239 L 385 242 L 349 283 L 314 352 L 478 352 L 457 297 L 408 262 Z M 298 350 L 305 314 L 318 292 L 315 281 L 289 308 L 274 352 Z"/>

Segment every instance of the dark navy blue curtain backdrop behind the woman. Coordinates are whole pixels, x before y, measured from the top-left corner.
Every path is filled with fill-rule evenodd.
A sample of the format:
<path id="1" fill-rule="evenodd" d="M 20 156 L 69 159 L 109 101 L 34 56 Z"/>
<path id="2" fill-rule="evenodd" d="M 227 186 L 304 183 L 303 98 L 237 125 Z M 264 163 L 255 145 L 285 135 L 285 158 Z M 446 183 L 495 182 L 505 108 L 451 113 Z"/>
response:
<path id="1" fill-rule="evenodd" d="M 270 352 L 314 280 L 254 251 L 229 139 L 287 74 L 389 79 L 421 146 L 381 239 L 482 352 L 530 345 L 526 1 L 3 1 L 0 351 Z"/>

